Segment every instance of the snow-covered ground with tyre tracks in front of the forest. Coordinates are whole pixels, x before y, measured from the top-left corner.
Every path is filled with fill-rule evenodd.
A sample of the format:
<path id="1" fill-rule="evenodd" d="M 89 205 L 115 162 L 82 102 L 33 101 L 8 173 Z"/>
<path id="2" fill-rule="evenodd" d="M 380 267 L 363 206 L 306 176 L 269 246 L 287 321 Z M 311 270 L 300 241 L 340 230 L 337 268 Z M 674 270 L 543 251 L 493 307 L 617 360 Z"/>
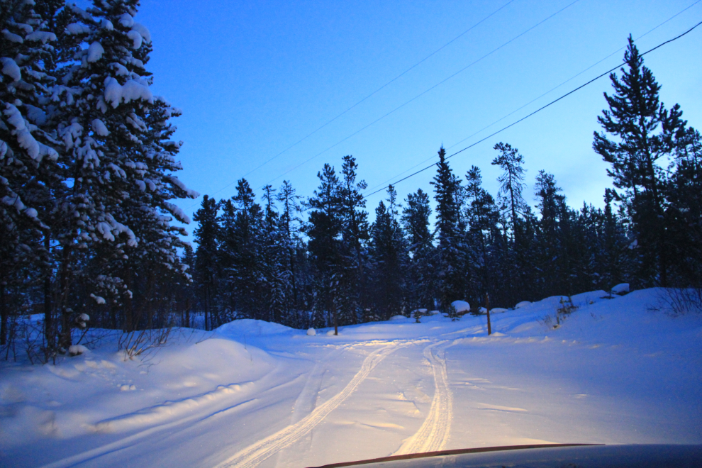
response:
<path id="1" fill-rule="evenodd" d="M 143 360 L 109 340 L 0 364 L 0 465 L 304 467 L 533 442 L 702 443 L 702 316 L 659 290 L 555 324 L 560 297 L 486 317 L 345 327 L 235 321 Z M 550 316 L 546 319 L 546 316 Z"/>

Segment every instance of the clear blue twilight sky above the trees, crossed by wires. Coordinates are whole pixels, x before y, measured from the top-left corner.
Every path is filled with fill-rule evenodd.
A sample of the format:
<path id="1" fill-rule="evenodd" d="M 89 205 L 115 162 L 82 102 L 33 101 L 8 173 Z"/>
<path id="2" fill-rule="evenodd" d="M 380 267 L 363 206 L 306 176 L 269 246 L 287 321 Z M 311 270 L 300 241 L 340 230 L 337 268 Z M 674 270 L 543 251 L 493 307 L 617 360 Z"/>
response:
<path id="1" fill-rule="evenodd" d="M 259 195 L 264 184 L 278 187 L 289 179 L 299 195 L 308 196 L 323 164 L 340 167 L 348 154 L 357 158 L 369 188 L 379 186 L 433 157 L 440 145 L 455 152 L 614 67 L 623 58 L 623 49 L 615 51 L 625 46 L 629 33 L 637 38 L 689 6 L 637 40 L 643 51 L 701 21 L 702 2 L 144 0 L 137 21 L 152 33 L 152 89 L 183 110 L 174 122 L 179 128 L 175 138 L 185 142 L 179 177 L 201 194 L 223 199 L 234 194 L 235 182 L 244 176 Z M 256 169 L 491 13 L 362 104 Z M 613 52 L 571 82 L 457 144 Z M 696 127 L 702 126 L 701 57 L 702 27 L 645 57 L 663 86 L 662 101 L 681 104 L 684 117 Z M 533 203 L 537 172 L 546 169 L 555 174 L 571 206 L 583 201 L 601 206 L 610 181 L 607 165 L 591 143 L 599 130 L 596 117 L 606 106 L 604 91 L 611 91 L 607 78 L 450 164 L 461 176 L 471 165 L 479 166 L 486 188 L 496 194 L 492 147 L 504 141 L 525 157 L 527 201 Z M 433 175 L 428 170 L 396 186 L 400 198 L 419 187 L 429 190 Z M 369 212 L 381 198 L 369 197 Z M 200 201 L 179 201 L 179 206 L 191 214 Z"/>

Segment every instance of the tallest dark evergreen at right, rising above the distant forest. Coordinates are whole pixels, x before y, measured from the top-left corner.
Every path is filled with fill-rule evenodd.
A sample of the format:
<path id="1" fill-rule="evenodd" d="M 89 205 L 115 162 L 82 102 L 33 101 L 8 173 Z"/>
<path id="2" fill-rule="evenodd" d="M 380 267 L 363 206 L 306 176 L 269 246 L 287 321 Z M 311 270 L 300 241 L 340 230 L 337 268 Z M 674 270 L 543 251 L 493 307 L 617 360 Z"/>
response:
<path id="1" fill-rule="evenodd" d="M 679 105 L 667 110 L 660 102 L 661 87 L 643 65 L 631 36 L 624 60 L 621 79 L 610 75 L 614 94 L 604 95 L 609 108 L 598 117 L 604 131 L 594 133 L 593 148 L 612 165 L 608 173 L 623 189 L 635 226 L 641 277 L 667 286 L 668 243 L 660 221 L 666 210 L 667 174 L 659 160 L 671 154 L 685 122 Z"/>

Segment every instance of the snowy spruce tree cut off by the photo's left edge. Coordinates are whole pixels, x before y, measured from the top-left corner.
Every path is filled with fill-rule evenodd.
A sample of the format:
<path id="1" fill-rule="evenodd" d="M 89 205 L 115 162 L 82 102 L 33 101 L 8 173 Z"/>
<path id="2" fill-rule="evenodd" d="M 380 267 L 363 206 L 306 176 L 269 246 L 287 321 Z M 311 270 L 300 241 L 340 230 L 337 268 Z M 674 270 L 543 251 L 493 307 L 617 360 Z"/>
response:
<path id="1" fill-rule="evenodd" d="M 0 1 L 1 345 L 8 337 L 11 289 L 40 277 L 50 282 L 51 274 L 47 213 L 58 153 L 46 126 L 52 77 L 45 65 L 56 35 L 33 7 L 28 1 Z M 52 348 L 52 336 L 46 338 Z"/>

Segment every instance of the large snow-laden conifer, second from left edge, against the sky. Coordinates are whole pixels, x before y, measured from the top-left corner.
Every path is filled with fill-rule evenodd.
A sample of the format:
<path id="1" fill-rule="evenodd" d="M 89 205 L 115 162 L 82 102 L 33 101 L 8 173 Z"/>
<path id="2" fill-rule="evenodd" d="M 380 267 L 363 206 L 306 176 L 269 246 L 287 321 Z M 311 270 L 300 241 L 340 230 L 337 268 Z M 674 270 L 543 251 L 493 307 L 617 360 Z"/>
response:
<path id="1" fill-rule="evenodd" d="M 182 143 L 169 139 L 174 128 L 168 120 L 179 111 L 150 90 L 145 64 L 151 38 L 134 19 L 137 7 L 137 0 L 95 0 L 87 10 L 67 6 L 77 21 L 65 34 L 84 47 L 66 65 L 52 96 L 63 104 L 55 117 L 66 179 L 55 194 L 63 215 L 56 233 L 63 347 L 70 344 L 67 301 L 77 251 L 110 243 L 116 258 L 133 252 L 134 260 L 149 258 L 159 269 L 184 272 L 175 255 L 184 231 L 169 223 L 190 220 L 172 199 L 198 194 L 174 175 L 181 169 L 175 157 Z M 123 263 L 123 269 L 138 267 L 131 259 Z M 123 280 L 124 273 L 113 270 L 106 276 Z M 125 291 L 127 298 L 132 294 Z"/>

